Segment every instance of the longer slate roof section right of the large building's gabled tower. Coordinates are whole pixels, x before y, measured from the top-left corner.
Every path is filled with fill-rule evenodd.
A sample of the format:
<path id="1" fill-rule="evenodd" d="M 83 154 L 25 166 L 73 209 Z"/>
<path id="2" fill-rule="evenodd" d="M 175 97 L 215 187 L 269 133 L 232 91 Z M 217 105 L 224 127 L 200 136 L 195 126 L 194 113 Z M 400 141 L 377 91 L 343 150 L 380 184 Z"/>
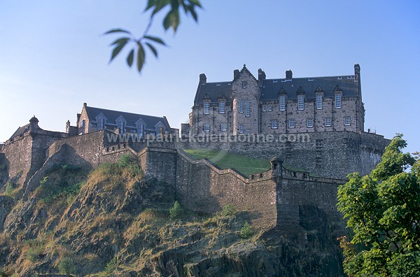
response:
<path id="1" fill-rule="evenodd" d="M 343 97 L 358 96 L 358 82 L 354 81 L 354 76 L 335 76 L 291 80 L 265 79 L 260 86 L 260 100 L 278 99 L 281 89 L 289 99 L 295 99 L 298 90 L 299 92 L 303 90 L 307 99 L 315 98 L 315 92 L 323 92 L 324 97 L 334 97 L 337 87 L 343 92 Z"/>

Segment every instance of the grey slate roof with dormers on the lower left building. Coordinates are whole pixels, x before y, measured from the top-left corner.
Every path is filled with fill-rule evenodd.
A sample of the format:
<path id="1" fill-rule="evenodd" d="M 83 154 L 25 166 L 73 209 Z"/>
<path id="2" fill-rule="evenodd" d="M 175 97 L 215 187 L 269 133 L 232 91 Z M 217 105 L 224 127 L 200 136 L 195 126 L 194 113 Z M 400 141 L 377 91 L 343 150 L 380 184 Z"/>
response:
<path id="1" fill-rule="evenodd" d="M 171 129 L 169 126 L 169 122 L 165 117 L 158 117 L 158 116 L 152 116 L 152 115 L 141 115 L 138 113 L 126 113 L 123 111 L 113 111 L 113 110 L 106 110 L 105 108 L 94 108 L 90 106 L 86 106 L 86 113 L 87 117 L 90 120 L 96 120 L 95 118 L 99 113 L 102 113 L 106 118 L 106 124 L 114 124 L 116 125 L 116 119 L 120 116 L 123 116 L 125 121 L 127 121 L 126 126 L 136 126 L 137 120 L 143 120 L 144 123 L 146 123 L 146 129 L 154 129 L 155 125 L 157 125 L 159 122 L 162 122 L 163 125 L 165 125 L 166 129 Z"/>

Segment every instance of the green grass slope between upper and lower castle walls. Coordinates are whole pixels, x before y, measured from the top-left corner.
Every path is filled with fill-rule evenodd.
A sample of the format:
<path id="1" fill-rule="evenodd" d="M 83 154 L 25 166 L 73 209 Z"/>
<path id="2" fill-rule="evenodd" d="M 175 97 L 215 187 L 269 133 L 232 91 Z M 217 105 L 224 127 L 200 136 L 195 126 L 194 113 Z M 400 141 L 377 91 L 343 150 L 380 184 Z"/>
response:
<path id="1" fill-rule="evenodd" d="M 270 168 L 268 159 L 253 159 L 223 150 L 184 149 L 184 151 L 195 157 L 195 159 L 207 158 L 222 169 L 236 169 L 245 176 L 267 171 Z"/>

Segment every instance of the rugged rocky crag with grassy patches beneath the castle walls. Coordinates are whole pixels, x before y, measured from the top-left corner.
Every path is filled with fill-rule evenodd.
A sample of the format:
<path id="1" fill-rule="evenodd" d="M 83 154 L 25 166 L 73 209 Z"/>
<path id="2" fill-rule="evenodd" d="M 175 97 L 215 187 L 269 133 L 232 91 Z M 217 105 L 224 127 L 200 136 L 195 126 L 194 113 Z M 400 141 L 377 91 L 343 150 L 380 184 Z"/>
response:
<path id="1" fill-rule="evenodd" d="M 174 187 L 144 181 L 134 161 L 90 173 L 57 165 L 27 200 L 13 195 L 0 196 L 0 270 L 10 275 L 344 275 L 335 225 L 316 206 L 300 206 L 304 236 L 246 233 L 246 211 L 175 211 Z"/>

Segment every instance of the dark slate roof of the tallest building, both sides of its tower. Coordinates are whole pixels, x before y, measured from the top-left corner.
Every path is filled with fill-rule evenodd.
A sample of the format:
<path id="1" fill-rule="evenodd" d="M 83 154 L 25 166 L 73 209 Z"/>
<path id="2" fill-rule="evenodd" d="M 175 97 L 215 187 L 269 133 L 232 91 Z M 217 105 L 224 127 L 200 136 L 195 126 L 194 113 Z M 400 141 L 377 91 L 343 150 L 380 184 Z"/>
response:
<path id="1" fill-rule="evenodd" d="M 217 102 L 221 94 L 225 95 L 226 101 L 232 101 L 232 82 L 204 83 L 199 84 L 195 94 L 194 104 L 203 102 L 204 97 L 209 97 L 211 102 Z M 338 87 L 337 87 L 338 85 Z M 279 98 L 281 88 L 286 92 L 288 99 L 295 99 L 296 92 L 304 91 L 306 99 L 315 98 L 316 89 L 321 87 L 324 97 L 334 97 L 335 90 L 342 90 L 343 97 L 358 96 L 358 82 L 354 76 L 314 77 L 314 78 L 292 78 L 286 79 L 265 79 L 260 85 L 260 100 L 276 100 Z"/>

